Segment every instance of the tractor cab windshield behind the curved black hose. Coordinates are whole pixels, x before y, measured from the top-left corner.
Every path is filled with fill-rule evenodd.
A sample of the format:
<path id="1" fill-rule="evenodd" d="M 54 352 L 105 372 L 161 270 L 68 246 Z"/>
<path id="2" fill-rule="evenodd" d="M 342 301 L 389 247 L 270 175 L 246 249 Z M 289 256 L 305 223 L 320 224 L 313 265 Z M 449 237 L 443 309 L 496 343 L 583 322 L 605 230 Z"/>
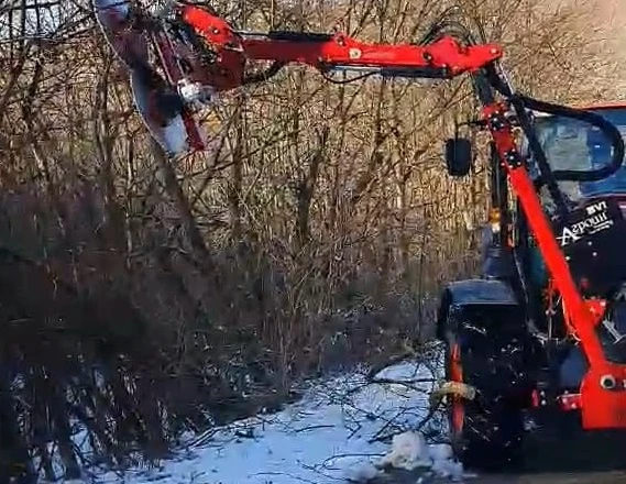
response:
<path id="1" fill-rule="evenodd" d="M 615 124 L 626 134 L 626 106 L 591 109 Z M 611 164 L 611 140 L 598 128 L 562 117 L 537 118 L 536 132 L 552 170 L 591 172 Z M 524 143 L 528 155 L 527 143 Z M 530 164 L 532 162 L 530 161 Z M 536 166 L 532 166 L 536 170 Z M 559 187 L 572 202 L 581 198 L 607 194 L 626 194 L 626 167 L 598 182 L 559 182 Z"/>

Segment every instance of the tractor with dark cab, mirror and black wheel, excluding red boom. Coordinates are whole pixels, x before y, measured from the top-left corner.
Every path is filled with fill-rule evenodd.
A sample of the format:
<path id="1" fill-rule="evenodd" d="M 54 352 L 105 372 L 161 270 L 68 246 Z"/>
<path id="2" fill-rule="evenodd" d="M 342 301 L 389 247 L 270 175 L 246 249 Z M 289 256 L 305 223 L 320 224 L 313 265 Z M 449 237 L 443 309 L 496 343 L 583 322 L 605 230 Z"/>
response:
<path id="1" fill-rule="evenodd" d="M 626 105 L 584 111 L 626 132 Z M 615 140 L 598 125 L 561 113 L 531 113 L 535 143 L 521 135 L 520 152 L 552 234 L 581 296 L 601 301 L 594 333 L 603 358 L 626 364 L 626 167 L 614 156 Z M 479 129 L 481 129 L 479 127 Z M 535 150 L 534 150 L 535 147 Z M 451 176 L 472 166 L 466 139 L 447 141 Z M 602 397 L 584 398 L 590 363 L 581 337 L 546 257 L 529 230 L 528 215 L 512 194 L 491 145 L 491 210 L 485 224 L 480 277 L 448 284 L 441 294 L 437 338 L 446 346 L 446 380 L 472 392 L 449 398 L 454 453 L 469 466 L 516 469 L 531 421 L 567 421 L 590 429 L 611 408 Z M 619 393 L 626 384 L 601 375 L 601 387 Z M 472 398 L 468 398 L 471 395 Z M 587 406 L 586 418 L 581 418 Z M 589 408 L 593 407 L 593 408 Z M 616 418 L 624 419 L 623 410 Z M 623 420 L 622 420 L 623 421 Z"/>

